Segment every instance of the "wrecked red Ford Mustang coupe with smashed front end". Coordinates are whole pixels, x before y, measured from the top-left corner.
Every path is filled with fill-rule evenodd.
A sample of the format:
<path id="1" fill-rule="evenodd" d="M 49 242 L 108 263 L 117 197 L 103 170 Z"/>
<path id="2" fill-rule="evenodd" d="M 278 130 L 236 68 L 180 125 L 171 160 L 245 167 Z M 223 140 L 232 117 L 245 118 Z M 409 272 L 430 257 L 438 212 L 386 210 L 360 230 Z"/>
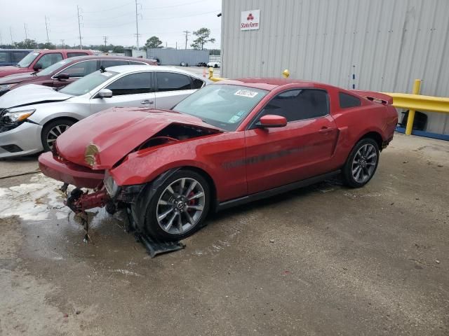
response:
<path id="1" fill-rule="evenodd" d="M 208 211 L 334 174 L 364 186 L 393 138 L 391 102 L 299 80 L 223 80 L 172 111 L 115 108 L 81 120 L 39 165 L 77 187 L 67 199 L 74 211 L 121 205 L 139 232 L 177 240 Z"/>

